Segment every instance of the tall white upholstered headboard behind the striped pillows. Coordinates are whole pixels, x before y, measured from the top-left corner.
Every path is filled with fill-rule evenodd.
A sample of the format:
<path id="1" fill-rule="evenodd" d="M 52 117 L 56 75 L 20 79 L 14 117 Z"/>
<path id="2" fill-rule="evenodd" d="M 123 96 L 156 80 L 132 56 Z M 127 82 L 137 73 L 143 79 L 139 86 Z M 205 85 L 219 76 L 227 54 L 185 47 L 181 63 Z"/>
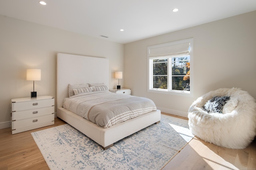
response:
<path id="1" fill-rule="evenodd" d="M 68 97 L 68 84 L 104 83 L 108 86 L 108 59 L 57 54 L 57 108 Z"/>

